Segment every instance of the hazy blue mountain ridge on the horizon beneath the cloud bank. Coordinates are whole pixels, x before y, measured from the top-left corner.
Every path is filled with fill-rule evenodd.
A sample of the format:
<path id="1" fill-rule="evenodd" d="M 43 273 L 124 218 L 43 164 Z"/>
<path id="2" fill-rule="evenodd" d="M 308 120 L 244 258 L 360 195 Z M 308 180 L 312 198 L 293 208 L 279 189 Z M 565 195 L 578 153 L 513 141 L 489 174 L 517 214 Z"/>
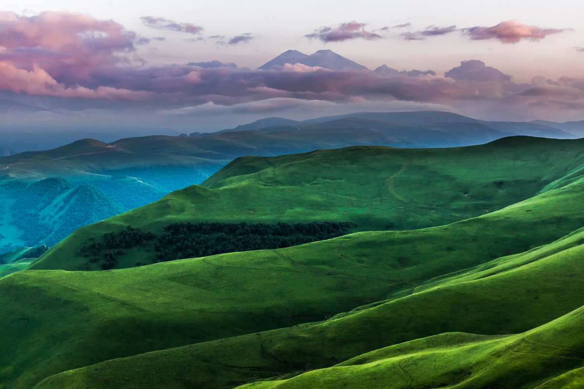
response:
<path id="1" fill-rule="evenodd" d="M 511 135 L 562 139 L 584 136 L 584 121 L 568 122 L 568 124 L 551 121 L 485 121 L 443 111 L 356 112 L 303 121 L 270 117 L 214 134 L 252 130 L 262 132 L 322 131 L 324 127 L 335 128 L 339 132 L 347 128 L 359 132 L 381 132 L 387 136 L 397 137 L 394 142 L 398 139 L 402 142 L 402 145 L 391 144 L 386 139 L 384 145 L 397 147 L 464 146 Z M 201 135 L 193 134 L 193 136 Z"/>

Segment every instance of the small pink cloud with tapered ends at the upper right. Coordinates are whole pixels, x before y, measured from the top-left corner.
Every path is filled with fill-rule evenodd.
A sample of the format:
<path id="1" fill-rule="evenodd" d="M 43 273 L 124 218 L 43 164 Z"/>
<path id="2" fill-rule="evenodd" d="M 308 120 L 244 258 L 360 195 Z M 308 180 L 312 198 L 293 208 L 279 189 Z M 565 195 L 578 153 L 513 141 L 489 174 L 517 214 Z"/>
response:
<path id="1" fill-rule="evenodd" d="M 472 40 L 498 39 L 502 43 L 517 43 L 527 38 L 532 41 L 540 40 L 550 34 L 557 34 L 571 29 L 544 29 L 537 26 L 528 26 L 517 20 L 507 20 L 492 27 L 471 27 L 465 29 L 465 34 Z"/>

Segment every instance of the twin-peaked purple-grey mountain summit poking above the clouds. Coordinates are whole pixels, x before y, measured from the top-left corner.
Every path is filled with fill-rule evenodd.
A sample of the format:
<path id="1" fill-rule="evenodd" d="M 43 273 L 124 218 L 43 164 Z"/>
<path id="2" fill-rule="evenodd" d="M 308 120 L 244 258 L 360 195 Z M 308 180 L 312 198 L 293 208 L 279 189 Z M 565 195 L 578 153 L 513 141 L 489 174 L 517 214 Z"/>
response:
<path id="1" fill-rule="evenodd" d="M 318 50 L 311 55 L 306 55 L 297 50 L 288 50 L 278 55 L 272 61 L 268 61 L 258 69 L 270 70 L 272 66 L 284 66 L 284 64 L 303 64 L 307 66 L 319 66 L 321 68 L 342 71 L 346 69 L 352 70 L 369 70 L 363 65 L 357 64 L 350 59 L 336 54 L 331 50 Z"/>

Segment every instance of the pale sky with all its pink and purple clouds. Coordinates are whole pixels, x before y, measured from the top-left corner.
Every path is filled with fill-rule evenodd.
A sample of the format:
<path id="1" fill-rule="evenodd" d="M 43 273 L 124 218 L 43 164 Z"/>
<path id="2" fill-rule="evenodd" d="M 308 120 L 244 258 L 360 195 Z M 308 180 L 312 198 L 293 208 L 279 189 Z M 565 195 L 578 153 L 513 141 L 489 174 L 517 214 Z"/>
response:
<path id="1" fill-rule="evenodd" d="M 4 0 L 0 136 L 188 134 L 352 111 L 584 120 L 581 15 L 573 0 Z M 369 70 L 257 69 L 287 50 Z"/>

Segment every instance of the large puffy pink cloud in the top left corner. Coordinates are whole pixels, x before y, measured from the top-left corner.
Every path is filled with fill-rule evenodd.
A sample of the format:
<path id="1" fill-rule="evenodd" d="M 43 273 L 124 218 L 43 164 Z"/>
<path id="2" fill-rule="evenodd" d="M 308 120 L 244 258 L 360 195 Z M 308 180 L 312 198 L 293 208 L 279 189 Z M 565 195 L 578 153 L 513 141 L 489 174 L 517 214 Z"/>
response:
<path id="1" fill-rule="evenodd" d="M 113 20 L 70 12 L 37 16 L 0 12 L 0 61 L 32 70 L 35 65 L 58 82 L 87 81 L 95 68 L 127 61 L 120 53 L 135 50 L 135 33 Z"/>

